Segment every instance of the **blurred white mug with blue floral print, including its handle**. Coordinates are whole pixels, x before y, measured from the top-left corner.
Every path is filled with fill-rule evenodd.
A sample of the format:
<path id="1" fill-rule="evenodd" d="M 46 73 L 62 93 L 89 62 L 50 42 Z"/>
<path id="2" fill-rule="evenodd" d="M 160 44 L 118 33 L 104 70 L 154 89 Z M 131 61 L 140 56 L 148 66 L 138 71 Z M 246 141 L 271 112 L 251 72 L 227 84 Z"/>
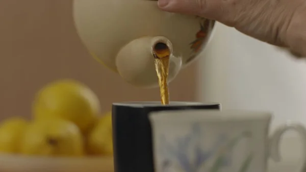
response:
<path id="1" fill-rule="evenodd" d="M 266 172 L 268 158 L 280 161 L 279 142 L 291 129 L 303 142 L 306 171 L 306 129 L 284 124 L 268 136 L 271 113 L 176 110 L 149 118 L 156 172 Z"/>

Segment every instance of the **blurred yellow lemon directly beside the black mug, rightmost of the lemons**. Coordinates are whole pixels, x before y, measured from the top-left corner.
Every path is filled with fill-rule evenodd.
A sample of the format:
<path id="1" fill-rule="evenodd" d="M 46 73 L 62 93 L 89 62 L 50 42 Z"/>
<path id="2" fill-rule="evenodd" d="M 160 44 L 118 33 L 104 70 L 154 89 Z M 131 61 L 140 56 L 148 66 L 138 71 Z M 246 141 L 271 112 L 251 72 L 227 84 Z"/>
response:
<path id="1" fill-rule="evenodd" d="M 113 155 L 112 113 L 96 122 L 87 137 L 87 151 L 93 155 Z"/>

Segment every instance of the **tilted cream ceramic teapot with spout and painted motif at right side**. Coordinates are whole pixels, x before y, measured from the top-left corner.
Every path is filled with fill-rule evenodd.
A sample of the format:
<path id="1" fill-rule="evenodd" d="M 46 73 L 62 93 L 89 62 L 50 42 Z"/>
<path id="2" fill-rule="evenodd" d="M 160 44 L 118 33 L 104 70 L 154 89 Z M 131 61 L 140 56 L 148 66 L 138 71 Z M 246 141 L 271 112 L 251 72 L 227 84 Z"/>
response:
<path id="1" fill-rule="evenodd" d="M 170 51 L 168 82 L 207 44 L 215 21 L 161 11 L 151 0 L 74 0 L 77 32 L 90 54 L 128 83 L 157 87 L 152 50 Z"/>

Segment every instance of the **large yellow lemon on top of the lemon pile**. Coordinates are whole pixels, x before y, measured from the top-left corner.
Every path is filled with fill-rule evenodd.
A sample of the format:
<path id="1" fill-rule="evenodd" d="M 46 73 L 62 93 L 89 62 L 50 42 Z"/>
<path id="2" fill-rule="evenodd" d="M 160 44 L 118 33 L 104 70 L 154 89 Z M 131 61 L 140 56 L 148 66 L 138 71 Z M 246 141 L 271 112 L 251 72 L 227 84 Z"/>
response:
<path id="1" fill-rule="evenodd" d="M 99 104 L 97 96 L 86 85 L 74 80 L 59 80 L 37 93 L 33 111 L 35 119 L 60 117 L 86 132 L 99 114 Z"/>

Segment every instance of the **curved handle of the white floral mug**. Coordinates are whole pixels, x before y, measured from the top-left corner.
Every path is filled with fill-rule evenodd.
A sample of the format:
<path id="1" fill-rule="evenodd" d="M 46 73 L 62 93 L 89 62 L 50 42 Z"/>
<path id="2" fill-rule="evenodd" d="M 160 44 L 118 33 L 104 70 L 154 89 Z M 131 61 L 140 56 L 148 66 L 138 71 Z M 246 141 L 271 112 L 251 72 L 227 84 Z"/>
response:
<path id="1" fill-rule="evenodd" d="M 302 157 L 302 167 L 301 172 L 306 171 L 306 128 L 301 124 L 285 124 L 276 128 L 272 136 L 269 138 L 269 157 L 275 162 L 281 161 L 281 152 L 279 148 L 279 143 L 281 143 L 281 138 L 284 133 L 288 130 L 296 131 L 301 137 L 301 142 L 303 146 L 303 157 Z"/>

